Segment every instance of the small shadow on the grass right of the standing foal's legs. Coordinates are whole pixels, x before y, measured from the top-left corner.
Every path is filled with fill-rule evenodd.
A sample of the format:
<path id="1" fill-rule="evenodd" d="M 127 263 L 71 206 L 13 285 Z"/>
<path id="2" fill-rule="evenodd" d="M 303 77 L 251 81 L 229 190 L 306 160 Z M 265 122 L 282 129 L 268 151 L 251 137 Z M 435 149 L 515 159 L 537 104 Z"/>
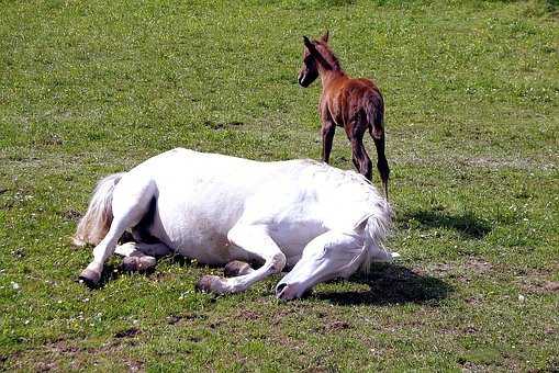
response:
<path id="1" fill-rule="evenodd" d="M 405 212 L 398 216 L 398 221 L 404 227 L 417 222 L 420 227 L 423 228 L 454 229 L 465 238 L 481 239 L 491 231 L 491 226 L 471 212 L 449 214 L 438 210 L 418 210 Z"/>

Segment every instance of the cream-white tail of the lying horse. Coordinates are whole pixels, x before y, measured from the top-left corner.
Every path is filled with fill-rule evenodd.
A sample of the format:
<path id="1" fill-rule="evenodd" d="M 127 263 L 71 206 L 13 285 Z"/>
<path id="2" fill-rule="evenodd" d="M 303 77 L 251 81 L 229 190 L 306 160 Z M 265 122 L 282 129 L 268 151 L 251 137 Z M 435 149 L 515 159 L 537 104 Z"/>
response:
<path id="1" fill-rule="evenodd" d="M 96 187 L 86 215 L 79 221 L 72 242 L 76 246 L 98 245 L 109 231 L 113 219 L 112 199 L 114 187 L 124 173 L 103 178 Z"/>

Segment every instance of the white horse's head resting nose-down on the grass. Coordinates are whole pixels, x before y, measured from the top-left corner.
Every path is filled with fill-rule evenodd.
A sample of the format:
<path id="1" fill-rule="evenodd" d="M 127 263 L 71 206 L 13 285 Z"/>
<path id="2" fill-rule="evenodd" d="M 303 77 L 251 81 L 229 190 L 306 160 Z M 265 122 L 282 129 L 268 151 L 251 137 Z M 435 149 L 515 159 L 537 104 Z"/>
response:
<path id="1" fill-rule="evenodd" d="M 276 296 L 298 298 L 320 282 L 348 278 L 362 263 L 364 255 L 359 235 L 327 231 L 306 245 L 295 267 L 276 286 Z"/>

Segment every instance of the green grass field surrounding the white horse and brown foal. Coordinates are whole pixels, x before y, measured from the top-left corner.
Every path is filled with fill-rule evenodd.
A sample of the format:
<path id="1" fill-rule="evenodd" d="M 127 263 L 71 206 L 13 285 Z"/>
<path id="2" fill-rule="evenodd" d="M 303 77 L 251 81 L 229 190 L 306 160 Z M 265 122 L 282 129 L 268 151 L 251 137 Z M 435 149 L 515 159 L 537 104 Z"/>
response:
<path id="1" fill-rule="evenodd" d="M 558 11 L 0 1 L 0 370 L 558 371 Z M 91 249 L 69 237 L 99 178 L 177 146 L 318 158 L 320 84 L 297 72 L 301 35 L 326 27 L 384 93 L 402 260 L 290 303 L 279 276 L 195 293 L 221 270 L 178 257 L 76 283 Z M 333 163 L 351 168 L 342 131 Z"/>

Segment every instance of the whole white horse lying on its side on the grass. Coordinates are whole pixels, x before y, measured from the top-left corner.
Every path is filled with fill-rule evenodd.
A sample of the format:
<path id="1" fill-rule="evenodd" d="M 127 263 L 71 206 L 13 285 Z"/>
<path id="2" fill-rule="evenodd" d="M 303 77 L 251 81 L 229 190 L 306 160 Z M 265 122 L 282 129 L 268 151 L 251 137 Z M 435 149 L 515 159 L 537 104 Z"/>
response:
<path id="1" fill-rule="evenodd" d="M 90 285 L 113 252 L 142 270 L 175 251 L 201 263 L 230 263 L 226 272 L 236 276 L 205 275 L 198 283 L 219 294 L 292 268 L 276 286 L 279 298 L 291 299 L 396 257 L 382 245 L 391 215 L 389 203 L 354 171 L 178 148 L 102 179 L 74 240 L 96 245 L 80 274 Z M 134 241 L 118 246 L 126 230 Z"/>

